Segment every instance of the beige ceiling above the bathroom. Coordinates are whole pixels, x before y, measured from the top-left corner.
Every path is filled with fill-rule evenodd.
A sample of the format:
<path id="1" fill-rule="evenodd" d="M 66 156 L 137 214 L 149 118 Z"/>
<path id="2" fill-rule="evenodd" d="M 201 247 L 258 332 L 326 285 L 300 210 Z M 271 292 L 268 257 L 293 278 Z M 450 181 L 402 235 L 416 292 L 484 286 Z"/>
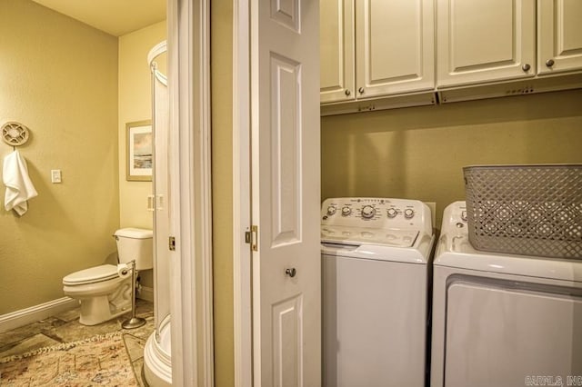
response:
<path id="1" fill-rule="evenodd" d="M 33 0 L 114 36 L 166 20 L 166 0 Z"/>

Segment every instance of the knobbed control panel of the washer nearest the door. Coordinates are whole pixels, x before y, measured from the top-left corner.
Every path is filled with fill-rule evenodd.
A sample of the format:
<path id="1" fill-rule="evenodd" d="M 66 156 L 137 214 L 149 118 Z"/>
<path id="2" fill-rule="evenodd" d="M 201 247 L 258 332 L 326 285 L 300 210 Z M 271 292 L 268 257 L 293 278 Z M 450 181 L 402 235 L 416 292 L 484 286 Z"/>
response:
<path id="1" fill-rule="evenodd" d="M 432 234 L 430 209 L 417 200 L 342 197 L 321 206 L 322 226 L 407 229 Z"/>

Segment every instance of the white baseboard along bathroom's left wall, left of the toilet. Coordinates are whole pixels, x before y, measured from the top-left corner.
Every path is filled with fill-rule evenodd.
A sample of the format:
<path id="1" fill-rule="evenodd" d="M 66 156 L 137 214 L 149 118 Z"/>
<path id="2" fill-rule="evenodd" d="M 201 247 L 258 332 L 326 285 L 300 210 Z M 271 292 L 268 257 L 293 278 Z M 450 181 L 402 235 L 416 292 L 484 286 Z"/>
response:
<path id="1" fill-rule="evenodd" d="M 0 332 L 6 332 L 27 323 L 35 323 L 46 317 L 73 309 L 79 305 L 77 300 L 70 297 L 62 297 L 48 303 L 31 306 L 11 313 L 0 315 Z"/>

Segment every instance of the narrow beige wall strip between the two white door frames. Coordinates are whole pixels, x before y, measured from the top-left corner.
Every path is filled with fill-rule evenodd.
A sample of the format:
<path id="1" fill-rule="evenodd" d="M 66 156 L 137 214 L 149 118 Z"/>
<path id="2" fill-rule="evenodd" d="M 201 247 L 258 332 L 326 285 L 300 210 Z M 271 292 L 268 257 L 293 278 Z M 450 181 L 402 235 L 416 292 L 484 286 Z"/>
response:
<path id="1" fill-rule="evenodd" d="M 232 2 L 211 14 L 215 385 L 235 385 L 233 342 Z"/>

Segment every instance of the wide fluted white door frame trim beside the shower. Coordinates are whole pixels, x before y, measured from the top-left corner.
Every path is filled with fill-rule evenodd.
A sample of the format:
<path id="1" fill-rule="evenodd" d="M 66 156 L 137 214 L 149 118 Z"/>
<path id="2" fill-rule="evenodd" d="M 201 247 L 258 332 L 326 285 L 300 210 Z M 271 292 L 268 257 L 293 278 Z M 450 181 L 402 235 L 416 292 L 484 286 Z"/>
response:
<path id="1" fill-rule="evenodd" d="M 168 0 L 172 384 L 212 387 L 209 0 Z"/>

